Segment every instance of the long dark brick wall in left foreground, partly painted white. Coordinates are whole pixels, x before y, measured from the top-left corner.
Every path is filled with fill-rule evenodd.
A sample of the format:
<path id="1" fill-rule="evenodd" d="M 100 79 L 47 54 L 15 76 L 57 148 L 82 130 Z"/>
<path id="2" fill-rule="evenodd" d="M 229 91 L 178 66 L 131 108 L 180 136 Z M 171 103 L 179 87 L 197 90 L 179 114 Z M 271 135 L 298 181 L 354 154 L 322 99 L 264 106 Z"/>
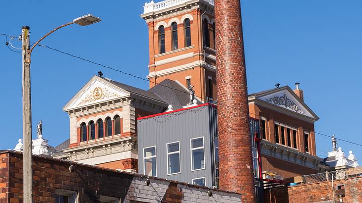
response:
<path id="1" fill-rule="evenodd" d="M 0 203 L 22 203 L 23 155 L 13 151 L 0 151 Z M 79 203 L 98 203 L 101 196 L 118 198 L 123 203 L 139 202 L 190 202 L 190 203 L 240 203 L 241 195 L 206 187 L 187 185 L 145 176 L 72 162 L 33 156 L 33 201 L 55 203 L 58 191 L 73 191 Z M 8 181 L 8 182 L 7 182 Z"/>

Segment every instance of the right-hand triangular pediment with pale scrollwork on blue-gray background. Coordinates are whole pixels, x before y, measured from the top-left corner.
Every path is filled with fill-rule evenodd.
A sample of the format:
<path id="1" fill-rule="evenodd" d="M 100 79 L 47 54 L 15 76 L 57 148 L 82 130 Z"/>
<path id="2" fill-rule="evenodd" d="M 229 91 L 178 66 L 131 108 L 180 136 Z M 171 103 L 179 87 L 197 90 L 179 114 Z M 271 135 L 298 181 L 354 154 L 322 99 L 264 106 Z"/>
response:
<path id="1" fill-rule="evenodd" d="M 256 97 L 256 99 L 291 110 L 310 118 L 315 118 L 313 115 L 314 113 L 310 112 L 306 105 L 299 101 L 296 97 L 297 96 L 288 91 L 288 89 L 284 89 L 278 92 L 260 95 L 259 97 Z"/>

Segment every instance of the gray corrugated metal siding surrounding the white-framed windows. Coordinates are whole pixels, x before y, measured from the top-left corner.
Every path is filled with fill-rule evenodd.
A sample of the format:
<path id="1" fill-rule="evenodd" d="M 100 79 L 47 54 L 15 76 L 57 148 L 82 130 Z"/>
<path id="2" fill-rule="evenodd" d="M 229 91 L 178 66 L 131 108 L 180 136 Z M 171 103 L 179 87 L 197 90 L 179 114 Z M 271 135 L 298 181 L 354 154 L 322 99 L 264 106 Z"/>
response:
<path id="1" fill-rule="evenodd" d="M 213 159 L 209 113 L 211 106 L 200 106 L 165 115 L 138 120 L 138 160 L 139 173 L 143 171 L 143 148 L 156 146 L 157 177 L 191 183 L 191 179 L 206 177 L 206 186 L 211 187 Z M 204 137 L 205 169 L 191 171 L 190 139 Z M 167 143 L 180 141 L 181 173 L 167 175 Z"/>

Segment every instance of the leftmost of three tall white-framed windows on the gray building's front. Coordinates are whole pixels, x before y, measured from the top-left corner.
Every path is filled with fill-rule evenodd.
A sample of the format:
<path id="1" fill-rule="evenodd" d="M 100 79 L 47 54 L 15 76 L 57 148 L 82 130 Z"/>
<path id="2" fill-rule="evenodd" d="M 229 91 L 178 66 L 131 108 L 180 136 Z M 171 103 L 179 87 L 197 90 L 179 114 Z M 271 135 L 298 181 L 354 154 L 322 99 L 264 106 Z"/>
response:
<path id="1" fill-rule="evenodd" d="M 143 148 L 143 174 L 157 176 L 156 146 Z"/>

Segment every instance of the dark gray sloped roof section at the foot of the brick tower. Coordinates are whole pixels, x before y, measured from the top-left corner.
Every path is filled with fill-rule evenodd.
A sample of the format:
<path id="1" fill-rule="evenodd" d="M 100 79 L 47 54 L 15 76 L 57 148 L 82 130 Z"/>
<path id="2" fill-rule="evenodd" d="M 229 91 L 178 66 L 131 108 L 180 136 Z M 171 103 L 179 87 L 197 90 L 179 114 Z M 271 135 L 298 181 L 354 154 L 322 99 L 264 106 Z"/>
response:
<path id="1" fill-rule="evenodd" d="M 148 90 L 150 93 L 158 95 L 168 104 L 172 104 L 174 109 L 182 108 L 189 101 L 188 91 L 179 83 L 166 79 L 160 84 Z"/>

